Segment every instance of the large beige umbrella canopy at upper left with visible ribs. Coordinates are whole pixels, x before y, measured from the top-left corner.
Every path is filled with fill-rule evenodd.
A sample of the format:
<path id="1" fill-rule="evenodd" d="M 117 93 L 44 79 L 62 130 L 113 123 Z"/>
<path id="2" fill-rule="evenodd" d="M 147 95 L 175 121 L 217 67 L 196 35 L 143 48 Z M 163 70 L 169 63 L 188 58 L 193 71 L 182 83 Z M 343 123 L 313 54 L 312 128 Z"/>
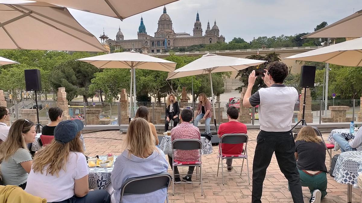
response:
<path id="1" fill-rule="evenodd" d="M 0 4 L 0 49 L 107 52 L 67 8 L 20 2 Z"/>

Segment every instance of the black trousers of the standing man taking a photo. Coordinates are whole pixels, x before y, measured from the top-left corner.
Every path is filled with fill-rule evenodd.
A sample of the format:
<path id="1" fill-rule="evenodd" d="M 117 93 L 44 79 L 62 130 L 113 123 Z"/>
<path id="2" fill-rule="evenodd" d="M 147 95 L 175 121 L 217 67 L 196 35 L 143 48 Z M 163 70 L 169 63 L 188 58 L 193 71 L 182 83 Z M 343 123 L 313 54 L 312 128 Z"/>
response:
<path id="1" fill-rule="evenodd" d="M 303 203 L 302 185 L 295 161 L 295 142 L 292 131 L 266 132 L 261 130 L 257 137 L 253 161 L 252 203 L 261 203 L 266 169 L 275 152 L 279 168 L 287 178 L 294 203 Z"/>

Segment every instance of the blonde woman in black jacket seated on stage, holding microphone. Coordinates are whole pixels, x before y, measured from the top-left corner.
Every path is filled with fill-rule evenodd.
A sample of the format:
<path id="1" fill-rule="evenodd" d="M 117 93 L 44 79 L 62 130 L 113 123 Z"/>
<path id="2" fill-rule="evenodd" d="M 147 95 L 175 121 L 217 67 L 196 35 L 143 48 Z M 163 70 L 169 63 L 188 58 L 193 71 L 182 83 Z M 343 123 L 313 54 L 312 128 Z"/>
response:
<path id="1" fill-rule="evenodd" d="M 165 115 L 165 132 L 167 132 L 170 121 L 173 120 L 173 127 L 176 127 L 179 121 L 178 116 L 180 115 L 180 107 L 173 94 L 168 95 L 166 100 Z"/>

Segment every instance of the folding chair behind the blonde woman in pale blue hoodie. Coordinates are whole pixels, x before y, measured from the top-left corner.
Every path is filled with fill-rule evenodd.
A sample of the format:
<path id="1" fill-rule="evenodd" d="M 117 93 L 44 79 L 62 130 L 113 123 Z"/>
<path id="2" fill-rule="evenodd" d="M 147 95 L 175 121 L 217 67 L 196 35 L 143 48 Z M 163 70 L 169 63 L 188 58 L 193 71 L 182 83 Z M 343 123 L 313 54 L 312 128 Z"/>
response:
<path id="1" fill-rule="evenodd" d="M 120 202 L 122 203 L 124 195 L 147 194 L 163 188 L 168 191 L 171 180 L 171 175 L 167 172 L 129 178 L 122 185 Z M 166 201 L 168 203 L 168 193 Z"/>

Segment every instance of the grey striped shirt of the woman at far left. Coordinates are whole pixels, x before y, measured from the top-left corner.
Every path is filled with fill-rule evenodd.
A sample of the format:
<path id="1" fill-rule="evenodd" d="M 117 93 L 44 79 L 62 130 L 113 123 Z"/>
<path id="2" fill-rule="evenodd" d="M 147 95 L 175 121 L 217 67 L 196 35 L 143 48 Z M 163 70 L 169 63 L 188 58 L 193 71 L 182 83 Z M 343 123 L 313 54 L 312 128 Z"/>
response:
<path id="1" fill-rule="evenodd" d="M 8 160 L 1 161 L 1 176 L 4 185 L 21 185 L 28 179 L 28 173 L 20 165 L 25 161 L 31 161 L 30 152 L 27 149 L 19 148 Z"/>

